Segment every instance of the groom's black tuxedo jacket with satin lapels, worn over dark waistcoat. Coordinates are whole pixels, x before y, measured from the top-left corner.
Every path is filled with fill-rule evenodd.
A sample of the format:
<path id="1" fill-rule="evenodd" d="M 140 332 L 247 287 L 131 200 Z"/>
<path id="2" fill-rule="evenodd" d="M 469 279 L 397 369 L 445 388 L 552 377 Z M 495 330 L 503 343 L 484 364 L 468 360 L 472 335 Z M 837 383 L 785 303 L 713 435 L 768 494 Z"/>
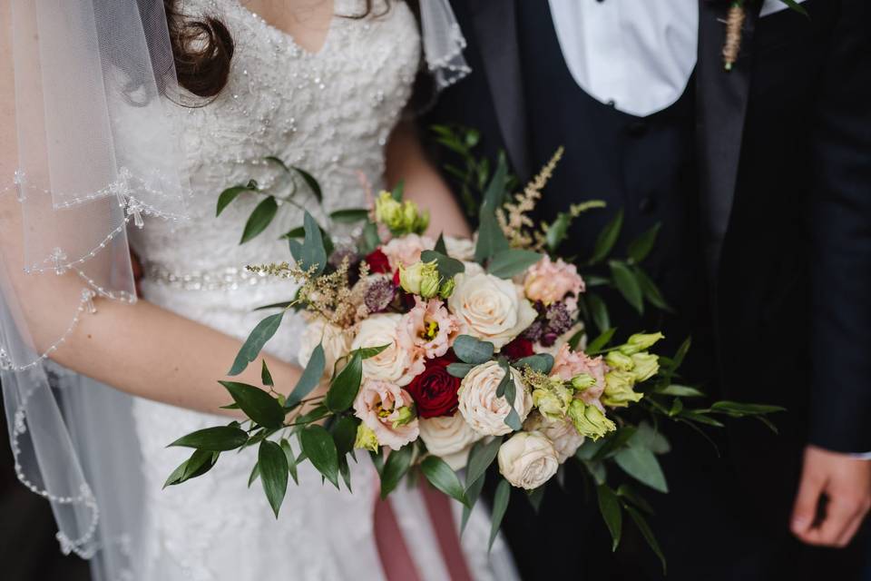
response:
<path id="1" fill-rule="evenodd" d="M 425 123 L 480 129 L 488 153 L 504 149 L 527 179 L 514 2 L 453 4 L 473 73 Z M 713 372 L 729 399 L 788 408 L 780 438 L 735 430 L 754 479 L 778 467 L 771 458 L 798 464 L 807 442 L 871 451 L 871 2 L 807 0 L 809 18 L 760 18 L 760 4 L 727 73 L 729 2 L 700 0 L 694 75 Z"/>

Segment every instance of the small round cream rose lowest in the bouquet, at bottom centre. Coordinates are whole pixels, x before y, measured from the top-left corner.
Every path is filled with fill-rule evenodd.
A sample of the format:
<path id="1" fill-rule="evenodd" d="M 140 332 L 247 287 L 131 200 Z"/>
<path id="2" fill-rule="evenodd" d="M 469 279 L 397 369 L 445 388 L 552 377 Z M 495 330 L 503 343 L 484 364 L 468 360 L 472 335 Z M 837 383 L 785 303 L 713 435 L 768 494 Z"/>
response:
<path id="1" fill-rule="evenodd" d="M 517 432 L 499 447 L 499 472 L 515 487 L 533 490 L 553 478 L 556 450 L 538 432 Z"/>

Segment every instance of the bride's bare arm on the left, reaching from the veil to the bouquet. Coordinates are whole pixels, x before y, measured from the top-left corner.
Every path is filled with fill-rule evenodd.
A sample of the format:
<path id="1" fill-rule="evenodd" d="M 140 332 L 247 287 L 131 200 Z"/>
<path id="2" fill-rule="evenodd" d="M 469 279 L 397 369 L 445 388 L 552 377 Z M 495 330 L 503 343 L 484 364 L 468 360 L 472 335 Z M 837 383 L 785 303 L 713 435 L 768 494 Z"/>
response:
<path id="1" fill-rule="evenodd" d="M 0 181 L 11 180 L 17 165 L 11 79 L 8 45 L 0 39 Z M 73 273 L 24 274 L 20 217 L 15 194 L 0 196 L 0 267 L 5 267 L 11 279 L 35 349 L 43 352 L 73 319 L 83 282 Z M 143 398 L 208 412 L 218 412 L 230 403 L 230 395 L 217 380 L 230 369 L 241 346 L 239 340 L 144 300 L 134 305 L 103 299 L 94 302 L 97 313 L 82 315 L 52 359 Z M 276 385 L 288 391 L 299 370 L 278 359 L 266 359 Z M 236 380 L 259 385 L 259 365 L 249 368 Z"/>

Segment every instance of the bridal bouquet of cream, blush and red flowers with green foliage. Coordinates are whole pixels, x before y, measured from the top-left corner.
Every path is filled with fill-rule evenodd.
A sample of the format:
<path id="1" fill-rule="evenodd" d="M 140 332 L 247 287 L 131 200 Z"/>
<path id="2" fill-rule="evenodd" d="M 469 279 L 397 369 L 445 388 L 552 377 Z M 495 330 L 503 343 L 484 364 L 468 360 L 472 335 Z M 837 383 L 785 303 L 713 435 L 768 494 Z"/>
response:
<path id="1" fill-rule="evenodd" d="M 250 483 L 261 480 L 278 516 L 299 463 L 308 460 L 330 484 L 350 489 L 348 462 L 367 452 L 382 497 L 406 475 L 426 478 L 465 506 L 465 526 L 495 464 L 494 537 L 510 487 L 528 491 L 537 506 L 545 485 L 573 460 L 598 489 L 614 547 L 625 512 L 659 554 L 642 514 L 647 504 L 629 484 L 611 487 L 606 467 L 664 492 L 656 455 L 668 442 L 647 419 L 720 425 L 712 416 L 776 409 L 734 402 L 691 409 L 683 401 L 702 394 L 672 382 L 688 345 L 669 359 L 652 351 L 658 332 L 611 344 L 607 310 L 588 287 L 612 285 L 641 307 L 645 296 L 661 301 L 655 287 L 644 292 L 638 282 L 655 231 L 634 243 L 631 257 L 610 261 L 605 274 L 593 271 L 612 251 L 619 221 L 602 232 L 585 263 L 590 273 L 559 257 L 569 224 L 602 206 L 575 206 L 551 224 L 529 217 L 560 154 L 510 198 L 500 162 L 474 240 L 427 238 L 428 215 L 403 201 L 401 186 L 381 192 L 372 208 L 334 215 L 365 222 L 353 245 L 334 244 L 307 212 L 301 229 L 287 235 L 294 261 L 249 267 L 293 280 L 298 291 L 267 307 L 278 312 L 250 333 L 230 369 L 230 376 L 246 369 L 285 313 L 298 310 L 308 320 L 301 378 L 283 391 L 264 360 L 262 387 L 221 381 L 233 399 L 227 408 L 247 419 L 173 442 L 195 451 L 167 485 L 201 476 L 223 452 L 257 446 Z M 588 342 L 591 322 L 601 334 Z M 633 416 L 636 408 L 643 413 Z"/>

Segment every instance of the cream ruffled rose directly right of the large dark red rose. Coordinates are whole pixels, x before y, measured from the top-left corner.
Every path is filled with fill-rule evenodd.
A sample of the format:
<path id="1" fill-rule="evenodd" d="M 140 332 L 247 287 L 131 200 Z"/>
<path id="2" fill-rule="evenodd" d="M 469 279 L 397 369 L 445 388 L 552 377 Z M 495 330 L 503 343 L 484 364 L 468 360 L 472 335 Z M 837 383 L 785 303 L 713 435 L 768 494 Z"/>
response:
<path id="1" fill-rule="evenodd" d="M 524 421 L 533 408 L 533 396 L 517 369 L 510 369 L 514 378 L 514 409 L 520 421 Z M 504 377 L 505 371 L 499 363 L 487 361 L 472 368 L 460 383 L 458 409 L 469 426 L 484 436 L 502 436 L 511 431 L 505 424 L 511 406 L 504 397 L 496 397 L 496 389 Z"/>

